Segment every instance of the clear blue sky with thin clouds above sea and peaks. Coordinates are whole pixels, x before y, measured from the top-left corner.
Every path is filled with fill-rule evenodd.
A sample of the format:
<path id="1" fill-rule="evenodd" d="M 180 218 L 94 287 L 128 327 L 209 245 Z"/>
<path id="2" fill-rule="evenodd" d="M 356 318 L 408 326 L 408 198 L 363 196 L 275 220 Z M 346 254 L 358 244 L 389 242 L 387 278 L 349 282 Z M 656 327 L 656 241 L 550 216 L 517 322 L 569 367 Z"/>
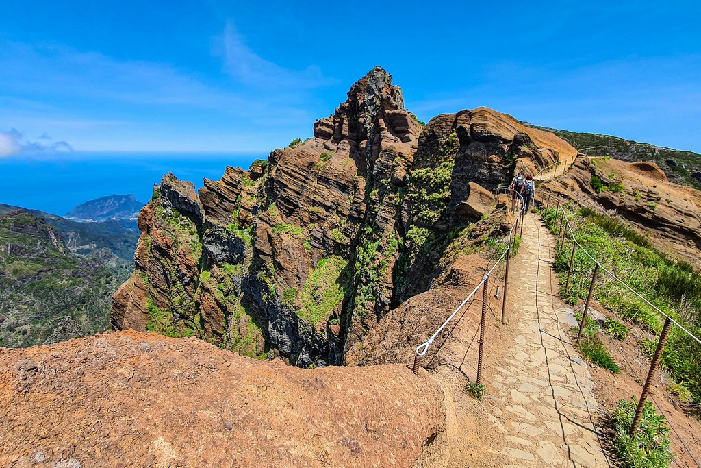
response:
<path id="1" fill-rule="evenodd" d="M 0 15 L 0 156 L 267 154 L 374 65 L 428 121 L 487 106 L 701 152 L 698 1 L 32 1 Z"/>

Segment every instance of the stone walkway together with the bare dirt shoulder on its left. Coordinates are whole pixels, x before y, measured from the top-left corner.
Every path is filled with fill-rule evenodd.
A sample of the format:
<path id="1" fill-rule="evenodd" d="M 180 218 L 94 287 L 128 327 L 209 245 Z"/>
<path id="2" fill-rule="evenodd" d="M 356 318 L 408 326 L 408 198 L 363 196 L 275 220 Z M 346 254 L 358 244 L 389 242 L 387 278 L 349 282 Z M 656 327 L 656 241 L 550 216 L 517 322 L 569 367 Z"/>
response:
<path id="1" fill-rule="evenodd" d="M 566 334 L 576 323 L 573 311 L 552 293 L 553 244 L 540 219 L 526 215 L 523 241 L 510 265 L 505 326 L 496 321 L 501 299 L 490 294 L 494 312 L 485 340 L 484 399 L 466 394 L 461 375 L 475 380 L 481 305 L 470 309 L 440 351 L 434 375 L 447 394 L 449 413 L 449 434 L 437 444 L 449 459 L 444 466 L 613 466 L 593 424 L 592 376 Z"/>

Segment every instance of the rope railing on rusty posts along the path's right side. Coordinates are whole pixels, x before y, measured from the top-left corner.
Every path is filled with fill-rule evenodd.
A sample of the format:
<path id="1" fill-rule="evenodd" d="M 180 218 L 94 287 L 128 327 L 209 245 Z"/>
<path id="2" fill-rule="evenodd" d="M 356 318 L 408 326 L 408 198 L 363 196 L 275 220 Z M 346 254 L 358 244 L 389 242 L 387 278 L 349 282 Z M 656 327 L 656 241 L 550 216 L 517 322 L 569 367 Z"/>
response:
<path id="1" fill-rule="evenodd" d="M 557 201 L 557 207 L 555 208 L 554 225 L 557 225 L 557 216 L 558 216 L 557 213 L 559 212 L 560 208 L 562 208 L 562 220 L 560 221 L 560 228 L 559 228 L 559 232 L 557 233 L 556 246 L 558 243 L 559 243 L 560 248 L 562 248 L 564 246 L 564 241 L 565 241 L 565 238 L 567 236 L 568 231 L 570 232 L 570 235 L 572 237 L 572 242 L 573 242 L 572 254 L 571 254 L 570 263 L 569 263 L 569 272 L 567 274 L 567 281 L 565 283 L 565 289 L 567 289 L 567 287 L 569 286 L 569 279 L 570 279 L 570 274 L 572 272 L 572 266 L 573 266 L 573 262 L 574 262 L 576 248 L 579 247 L 585 253 L 585 255 L 587 255 L 587 257 L 589 257 L 594 262 L 594 272 L 592 273 L 592 283 L 591 283 L 591 286 L 589 288 L 589 295 L 587 296 L 587 301 L 585 302 L 584 311 L 582 313 L 582 319 L 579 323 L 577 344 L 579 344 L 580 339 L 582 337 L 582 333 L 583 333 L 584 326 L 585 326 L 585 320 L 587 319 L 587 311 L 589 310 L 590 301 L 592 299 L 592 292 L 594 291 L 594 286 L 595 286 L 595 283 L 597 281 L 597 273 L 599 272 L 599 269 L 603 270 L 606 274 L 608 274 L 608 276 L 611 277 L 611 279 L 617 281 L 620 285 L 625 287 L 627 290 L 629 290 L 631 293 L 633 293 L 636 297 L 639 297 L 639 299 L 643 300 L 648 306 L 650 306 L 653 310 L 658 312 L 658 314 L 665 317 L 665 324 L 662 327 L 662 331 L 660 332 L 658 345 L 655 349 L 655 354 L 653 355 L 653 359 L 652 359 L 651 364 L 650 364 L 650 369 L 648 370 L 648 377 L 645 381 L 645 384 L 643 385 L 643 391 L 642 391 L 642 394 L 640 396 L 640 399 L 638 400 L 638 406 L 637 406 L 637 409 L 635 412 L 635 417 L 634 417 L 632 425 L 631 425 L 630 434 L 634 435 L 637 432 L 638 424 L 641 420 L 641 416 L 643 413 L 643 408 L 644 408 L 645 402 L 648 398 L 648 394 L 650 393 L 650 387 L 651 387 L 653 379 L 655 377 L 655 371 L 657 370 L 658 365 L 660 363 L 660 358 L 662 357 L 662 351 L 664 350 L 665 342 L 667 341 L 667 337 L 669 336 L 669 328 L 672 326 L 672 323 L 674 323 L 674 325 L 676 325 L 680 330 L 682 330 L 684 333 L 686 333 L 686 335 L 688 335 L 688 337 L 690 337 L 692 340 L 699 343 L 700 345 L 701 345 L 701 339 L 699 337 L 695 336 L 693 333 L 691 333 L 686 328 L 684 328 L 678 321 L 676 321 L 674 318 L 672 318 L 672 316 L 669 316 L 669 314 L 662 311 L 659 307 L 655 306 L 652 302 L 647 300 L 646 297 L 644 297 L 643 295 L 638 293 L 637 290 L 634 290 L 631 286 L 628 286 L 628 284 L 625 283 L 625 281 L 618 278 L 618 276 L 616 276 L 613 272 L 611 272 L 611 270 L 609 270 L 606 267 L 604 267 L 603 265 L 601 265 L 601 262 L 599 262 L 599 260 L 597 260 L 597 258 L 594 258 L 594 256 L 586 248 L 584 248 L 582 246 L 582 244 L 580 244 L 579 241 L 577 240 L 577 238 L 575 236 L 575 230 L 573 229 L 569 218 L 567 218 L 567 213 L 565 212 L 565 208 L 564 208 L 564 206 L 562 206 L 559 203 L 559 201 Z M 562 229 L 563 223 L 564 223 L 565 229 Z M 560 241 L 561 232 L 562 232 L 562 241 Z M 666 419 L 666 417 L 665 417 L 665 419 Z M 681 438 L 680 438 L 680 440 L 681 440 Z M 682 443 L 683 443 L 683 441 L 682 441 Z"/>

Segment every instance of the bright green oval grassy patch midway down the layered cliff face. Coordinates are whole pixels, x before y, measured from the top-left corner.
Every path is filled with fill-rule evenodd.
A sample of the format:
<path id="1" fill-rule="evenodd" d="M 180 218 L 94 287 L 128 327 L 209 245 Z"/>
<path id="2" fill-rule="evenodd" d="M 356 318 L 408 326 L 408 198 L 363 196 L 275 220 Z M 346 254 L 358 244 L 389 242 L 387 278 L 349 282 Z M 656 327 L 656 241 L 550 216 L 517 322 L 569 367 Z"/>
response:
<path id="1" fill-rule="evenodd" d="M 317 325 L 328 321 L 346 295 L 348 279 L 344 270 L 348 262 L 336 255 L 319 260 L 307 276 L 301 292 L 302 319 Z"/>

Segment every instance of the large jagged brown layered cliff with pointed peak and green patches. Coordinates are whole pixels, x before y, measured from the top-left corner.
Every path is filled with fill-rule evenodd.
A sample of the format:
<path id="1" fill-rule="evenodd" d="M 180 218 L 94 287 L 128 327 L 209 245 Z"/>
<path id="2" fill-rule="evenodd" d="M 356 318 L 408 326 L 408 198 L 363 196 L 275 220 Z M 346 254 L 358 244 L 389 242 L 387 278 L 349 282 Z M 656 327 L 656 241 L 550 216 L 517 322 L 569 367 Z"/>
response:
<path id="1" fill-rule="evenodd" d="M 576 152 L 479 108 L 432 119 L 404 109 L 380 67 L 314 137 L 197 194 L 163 178 L 139 215 L 135 274 L 114 328 L 196 335 L 250 356 L 325 366 L 444 275 L 456 230 L 491 211 L 489 190 Z M 520 162 L 519 162 L 520 161 Z"/>

